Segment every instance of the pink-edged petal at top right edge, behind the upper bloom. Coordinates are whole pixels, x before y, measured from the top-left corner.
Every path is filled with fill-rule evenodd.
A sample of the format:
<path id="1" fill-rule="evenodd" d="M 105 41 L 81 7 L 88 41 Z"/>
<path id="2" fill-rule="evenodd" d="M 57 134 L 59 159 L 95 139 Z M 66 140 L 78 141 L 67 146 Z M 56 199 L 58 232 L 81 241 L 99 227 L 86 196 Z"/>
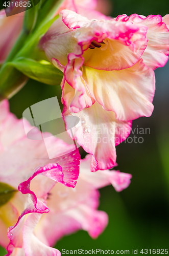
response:
<path id="1" fill-rule="evenodd" d="M 169 54 L 169 30 L 167 29 L 168 18 L 162 18 L 160 15 L 149 15 L 148 17 L 132 14 L 119 15 L 116 20 L 123 22 L 133 22 L 134 24 L 143 24 L 148 27 L 147 38 L 148 46 L 142 55 L 144 63 L 156 69 L 163 67 Z M 167 24 L 165 24 L 165 21 Z"/>

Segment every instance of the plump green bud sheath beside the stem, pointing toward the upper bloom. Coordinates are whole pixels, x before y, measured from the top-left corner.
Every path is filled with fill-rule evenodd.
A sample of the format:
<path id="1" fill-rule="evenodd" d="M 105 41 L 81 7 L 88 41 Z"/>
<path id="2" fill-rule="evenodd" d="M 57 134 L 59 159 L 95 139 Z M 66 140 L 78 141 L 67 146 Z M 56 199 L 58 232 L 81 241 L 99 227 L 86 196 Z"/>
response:
<path id="1" fill-rule="evenodd" d="M 52 86 L 60 84 L 63 78 L 63 73 L 46 60 L 18 58 L 12 65 L 26 76 Z"/>

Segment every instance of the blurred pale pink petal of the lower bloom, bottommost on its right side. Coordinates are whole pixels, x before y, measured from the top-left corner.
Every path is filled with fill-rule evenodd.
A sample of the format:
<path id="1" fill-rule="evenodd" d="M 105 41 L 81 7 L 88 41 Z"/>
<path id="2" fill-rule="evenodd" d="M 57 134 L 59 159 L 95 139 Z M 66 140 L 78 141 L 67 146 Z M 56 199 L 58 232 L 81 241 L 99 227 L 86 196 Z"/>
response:
<path id="1" fill-rule="evenodd" d="M 83 185 L 88 193 L 87 183 Z M 90 187 L 91 188 L 91 187 Z M 79 188 L 74 194 L 81 194 Z M 54 194 L 57 196 L 57 194 Z M 58 211 L 55 214 L 50 211 L 49 215 L 45 215 L 41 219 L 41 229 L 35 230 L 36 236 L 45 237 L 50 246 L 65 235 L 76 232 L 79 229 L 86 230 L 92 238 L 99 236 L 108 223 L 108 216 L 104 211 L 98 211 L 98 193 L 90 193 L 87 197 L 81 194 L 81 200 L 74 202 L 74 206 Z M 93 197 L 93 198 L 92 198 Z M 64 198 L 65 199 L 65 198 Z M 63 201 L 63 200 L 62 200 Z M 96 201 L 96 203 L 93 203 Z M 75 204 L 76 203 L 76 204 Z"/>

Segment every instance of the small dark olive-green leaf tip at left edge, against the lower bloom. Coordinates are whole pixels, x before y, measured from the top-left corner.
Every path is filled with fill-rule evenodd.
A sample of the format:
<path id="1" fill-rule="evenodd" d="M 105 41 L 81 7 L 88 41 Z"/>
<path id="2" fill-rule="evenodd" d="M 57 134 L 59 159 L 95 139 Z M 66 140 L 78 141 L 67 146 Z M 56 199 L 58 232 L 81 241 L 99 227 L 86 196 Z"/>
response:
<path id="1" fill-rule="evenodd" d="M 0 182 L 0 207 L 8 203 L 17 190 L 6 183 Z"/>

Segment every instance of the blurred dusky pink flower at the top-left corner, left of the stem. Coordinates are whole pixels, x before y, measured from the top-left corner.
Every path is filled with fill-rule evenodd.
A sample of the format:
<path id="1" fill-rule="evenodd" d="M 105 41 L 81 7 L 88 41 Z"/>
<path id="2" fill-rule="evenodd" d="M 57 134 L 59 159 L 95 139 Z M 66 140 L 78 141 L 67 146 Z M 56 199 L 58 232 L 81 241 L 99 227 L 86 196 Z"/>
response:
<path id="1" fill-rule="evenodd" d="M 22 28 L 23 17 L 22 13 L 7 17 L 5 10 L 0 11 L 0 64 L 4 62 L 15 44 Z"/>

